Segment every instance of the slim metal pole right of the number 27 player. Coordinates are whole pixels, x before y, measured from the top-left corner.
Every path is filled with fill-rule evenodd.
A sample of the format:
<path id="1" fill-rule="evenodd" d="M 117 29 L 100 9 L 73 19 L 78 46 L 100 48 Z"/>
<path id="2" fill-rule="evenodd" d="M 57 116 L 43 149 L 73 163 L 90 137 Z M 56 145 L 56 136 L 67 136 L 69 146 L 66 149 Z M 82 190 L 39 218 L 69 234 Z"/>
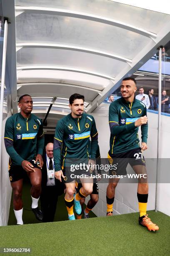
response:
<path id="1" fill-rule="evenodd" d="M 158 211 L 158 189 L 159 189 L 159 175 L 160 175 L 161 84 L 162 84 L 162 46 L 160 46 L 159 48 L 158 148 L 157 148 L 157 168 L 156 168 L 155 212 Z"/>

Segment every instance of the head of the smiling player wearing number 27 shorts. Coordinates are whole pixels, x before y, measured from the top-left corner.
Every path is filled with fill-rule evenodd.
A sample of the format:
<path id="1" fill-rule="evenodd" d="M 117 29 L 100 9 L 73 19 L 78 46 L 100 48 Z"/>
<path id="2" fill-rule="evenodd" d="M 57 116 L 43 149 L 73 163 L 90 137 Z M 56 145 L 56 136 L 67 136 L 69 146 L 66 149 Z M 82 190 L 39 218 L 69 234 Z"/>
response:
<path id="1" fill-rule="evenodd" d="M 137 87 L 133 80 L 122 81 L 120 92 L 125 100 L 131 101 L 131 98 L 134 98 L 136 90 Z"/>

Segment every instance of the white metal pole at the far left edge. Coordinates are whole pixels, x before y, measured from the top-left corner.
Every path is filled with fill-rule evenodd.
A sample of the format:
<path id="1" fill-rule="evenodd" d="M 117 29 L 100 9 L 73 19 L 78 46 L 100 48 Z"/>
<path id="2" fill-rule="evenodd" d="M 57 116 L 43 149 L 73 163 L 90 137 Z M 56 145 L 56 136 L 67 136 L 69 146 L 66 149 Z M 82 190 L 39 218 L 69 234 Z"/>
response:
<path id="1" fill-rule="evenodd" d="M 1 76 L 1 90 L 0 90 L 0 169 L 1 169 L 1 148 L 2 148 L 2 120 L 3 120 L 3 102 L 4 102 L 4 86 L 5 86 L 5 66 L 6 66 L 6 52 L 7 52 L 7 20 L 4 25 L 4 41 L 2 54 L 2 76 Z"/>

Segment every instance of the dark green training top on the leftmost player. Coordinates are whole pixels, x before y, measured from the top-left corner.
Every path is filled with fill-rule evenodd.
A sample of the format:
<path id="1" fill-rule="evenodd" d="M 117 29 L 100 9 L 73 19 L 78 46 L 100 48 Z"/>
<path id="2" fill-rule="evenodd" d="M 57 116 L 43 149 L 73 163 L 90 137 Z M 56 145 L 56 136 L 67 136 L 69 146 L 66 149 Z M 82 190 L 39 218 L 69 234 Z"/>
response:
<path id="1" fill-rule="evenodd" d="M 43 153 L 44 133 L 42 122 L 31 114 L 24 118 L 20 113 L 10 116 L 5 124 L 5 147 L 12 165 L 21 165 Z"/>

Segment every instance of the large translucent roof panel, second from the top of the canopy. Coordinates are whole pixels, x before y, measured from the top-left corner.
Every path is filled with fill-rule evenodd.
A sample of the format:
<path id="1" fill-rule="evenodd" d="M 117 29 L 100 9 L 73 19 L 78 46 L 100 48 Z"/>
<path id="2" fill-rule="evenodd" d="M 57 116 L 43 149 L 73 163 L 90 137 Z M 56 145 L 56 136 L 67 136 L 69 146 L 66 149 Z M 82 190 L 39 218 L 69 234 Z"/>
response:
<path id="1" fill-rule="evenodd" d="M 150 40 L 138 33 L 90 20 L 29 13 L 16 17 L 19 43 L 69 44 L 133 59 Z"/>

